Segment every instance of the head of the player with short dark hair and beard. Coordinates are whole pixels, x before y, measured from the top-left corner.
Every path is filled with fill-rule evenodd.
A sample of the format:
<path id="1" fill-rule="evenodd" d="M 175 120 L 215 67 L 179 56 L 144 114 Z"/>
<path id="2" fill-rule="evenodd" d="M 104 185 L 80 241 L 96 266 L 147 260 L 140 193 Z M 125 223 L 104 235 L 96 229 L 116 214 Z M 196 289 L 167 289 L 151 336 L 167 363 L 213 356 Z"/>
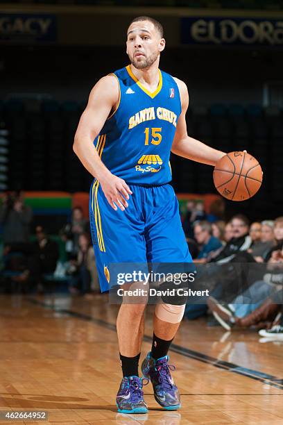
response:
<path id="1" fill-rule="evenodd" d="M 126 45 L 130 63 L 135 68 L 151 67 L 165 47 L 162 25 L 148 16 L 133 19 L 128 27 Z"/>

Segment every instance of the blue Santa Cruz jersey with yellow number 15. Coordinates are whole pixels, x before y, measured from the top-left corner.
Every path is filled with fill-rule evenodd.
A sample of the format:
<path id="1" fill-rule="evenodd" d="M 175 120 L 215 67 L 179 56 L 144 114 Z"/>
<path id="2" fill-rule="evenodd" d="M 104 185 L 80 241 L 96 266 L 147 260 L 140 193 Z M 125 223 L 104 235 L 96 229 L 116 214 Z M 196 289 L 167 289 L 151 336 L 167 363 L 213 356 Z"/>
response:
<path id="1" fill-rule="evenodd" d="M 171 181 L 170 151 L 182 106 L 173 77 L 160 70 L 159 74 L 158 87 L 151 93 L 130 65 L 113 73 L 119 82 L 119 104 L 94 140 L 105 166 L 128 184 Z"/>

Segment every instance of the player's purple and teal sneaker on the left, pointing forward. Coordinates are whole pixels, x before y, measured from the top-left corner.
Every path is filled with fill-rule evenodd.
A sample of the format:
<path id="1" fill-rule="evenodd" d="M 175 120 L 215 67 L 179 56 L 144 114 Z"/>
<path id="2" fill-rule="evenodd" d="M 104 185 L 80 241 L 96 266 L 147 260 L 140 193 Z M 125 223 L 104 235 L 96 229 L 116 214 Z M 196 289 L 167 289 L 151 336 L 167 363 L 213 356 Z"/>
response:
<path id="1" fill-rule="evenodd" d="M 146 381 L 146 383 L 144 383 Z M 148 407 L 144 401 L 143 385 L 148 384 L 148 379 L 139 376 L 125 376 L 122 379 L 116 397 L 118 412 L 120 413 L 147 413 Z"/>

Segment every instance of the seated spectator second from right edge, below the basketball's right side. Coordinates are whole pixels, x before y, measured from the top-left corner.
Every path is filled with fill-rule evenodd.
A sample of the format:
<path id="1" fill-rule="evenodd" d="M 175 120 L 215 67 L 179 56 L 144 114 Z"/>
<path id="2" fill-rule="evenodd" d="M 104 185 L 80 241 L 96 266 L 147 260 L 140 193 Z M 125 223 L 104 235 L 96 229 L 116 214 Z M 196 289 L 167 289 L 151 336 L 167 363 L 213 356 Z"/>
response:
<path id="1" fill-rule="evenodd" d="M 252 254 L 257 263 L 264 263 L 268 252 L 275 246 L 273 227 L 273 220 L 261 222 L 260 240 L 248 249 L 248 253 Z"/>

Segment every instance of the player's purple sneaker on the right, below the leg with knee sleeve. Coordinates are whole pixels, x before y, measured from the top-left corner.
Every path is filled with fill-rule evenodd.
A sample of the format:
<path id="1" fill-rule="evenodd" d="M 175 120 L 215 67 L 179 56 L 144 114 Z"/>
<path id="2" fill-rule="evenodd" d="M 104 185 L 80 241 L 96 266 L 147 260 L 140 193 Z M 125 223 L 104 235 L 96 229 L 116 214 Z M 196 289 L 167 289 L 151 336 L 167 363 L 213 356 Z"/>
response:
<path id="1" fill-rule="evenodd" d="M 175 366 L 169 365 L 168 360 L 169 356 L 155 360 L 149 352 L 141 364 L 141 372 L 151 380 L 157 403 L 166 410 L 177 410 L 181 407 L 180 393 L 170 373 Z"/>

